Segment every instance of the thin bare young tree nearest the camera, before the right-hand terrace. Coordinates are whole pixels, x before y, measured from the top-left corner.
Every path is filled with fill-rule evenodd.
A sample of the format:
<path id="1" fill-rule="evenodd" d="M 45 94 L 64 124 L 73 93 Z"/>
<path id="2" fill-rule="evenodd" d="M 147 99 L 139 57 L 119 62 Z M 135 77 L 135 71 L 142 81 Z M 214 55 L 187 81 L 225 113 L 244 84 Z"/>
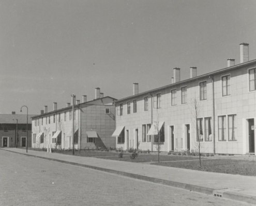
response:
<path id="1" fill-rule="evenodd" d="M 192 120 L 195 123 L 195 131 L 196 131 L 196 135 L 197 135 L 197 147 L 198 147 L 198 152 L 199 152 L 199 164 L 200 167 L 202 166 L 202 162 L 201 162 L 201 125 L 199 125 L 199 121 L 198 121 L 198 117 L 199 117 L 199 112 L 200 112 L 200 102 L 197 98 L 193 98 L 191 99 L 190 102 L 190 106 L 191 106 L 191 111 L 192 111 Z"/>

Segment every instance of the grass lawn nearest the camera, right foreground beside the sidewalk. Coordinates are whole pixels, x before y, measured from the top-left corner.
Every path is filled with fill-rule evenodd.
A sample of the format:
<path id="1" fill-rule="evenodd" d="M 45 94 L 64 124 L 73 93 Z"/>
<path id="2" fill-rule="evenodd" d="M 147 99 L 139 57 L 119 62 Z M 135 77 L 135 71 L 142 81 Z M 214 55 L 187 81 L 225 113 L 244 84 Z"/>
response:
<path id="1" fill-rule="evenodd" d="M 202 167 L 200 167 L 199 161 L 160 162 L 153 164 L 168 167 L 212 171 L 214 173 L 256 176 L 256 161 L 231 159 L 202 160 Z"/>

